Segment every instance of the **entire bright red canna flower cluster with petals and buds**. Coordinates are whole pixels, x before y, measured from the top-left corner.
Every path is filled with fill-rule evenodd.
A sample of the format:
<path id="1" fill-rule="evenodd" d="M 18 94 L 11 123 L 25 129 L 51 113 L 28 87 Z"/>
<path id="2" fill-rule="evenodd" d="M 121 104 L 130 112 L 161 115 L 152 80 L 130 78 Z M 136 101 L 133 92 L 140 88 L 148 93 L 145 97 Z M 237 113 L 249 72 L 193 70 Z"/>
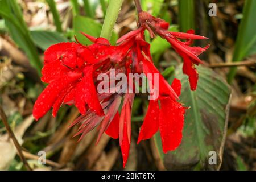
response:
<path id="1" fill-rule="evenodd" d="M 112 138 L 119 138 L 125 167 L 131 139 L 131 108 L 134 93 L 97 93 L 97 76 L 109 74 L 114 68 L 117 73 L 159 73 L 150 55 L 150 44 L 144 40 L 144 31 L 151 36 L 159 35 L 166 39 L 184 59 L 183 71 L 189 76 L 191 89 L 196 89 L 198 74 L 194 64 L 201 63 L 197 57 L 208 47 L 190 47 L 193 39 L 205 39 L 203 36 L 188 33 L 170 32 L 169 24 L 146 12 L 139 14 L 139 28 L 122 36 L 117 46 L 110 45 L 104 38 L 93 38 L 84 34 L 93 42 L 91 46 L 77 43 L 59 43 L 44 53 L 42 81 L 49 85 L 36 100 L 33 115 L 36 120 L 43 117 L 53 107 L 56 116 L 61 104 L 74 104 L 81 116 L 71 126 L 80 124 L 80 139 L 99 126 L 98 140 L 105 132 Z M 185 39 L 181 42 L 179 39 Z M 153 84 L 154 77 L 148 80 Z M 131 80 L 129 80 L 130 82 Z M 138 83 L 139 84 L 139 83 Z M 127 88 L 129 89 L 129 88 Z M 181 84 L 174 80 L 170 86 L 159 73 L 159 97 L 150 100 L 146 117 L 139 133 L 138 143 L 151 138 L 160 130 L 163 151 L 175 150 L 181 142 L 185 107 L 177 100 Z M 122 110 L 118 109 L 122 102 Z M 160 106 L 159 106 L 160 103 Z"/>

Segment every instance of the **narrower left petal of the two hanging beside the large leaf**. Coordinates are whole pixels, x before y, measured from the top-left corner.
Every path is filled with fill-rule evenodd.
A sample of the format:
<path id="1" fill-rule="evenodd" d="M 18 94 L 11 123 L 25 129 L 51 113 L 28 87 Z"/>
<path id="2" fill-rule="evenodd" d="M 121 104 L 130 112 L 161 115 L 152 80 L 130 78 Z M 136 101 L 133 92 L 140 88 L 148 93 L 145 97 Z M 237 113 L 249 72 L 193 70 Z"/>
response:
<path id="1" fill-rule="evenodd" d="M 138 142 L 151 138 L 158 131 L 159 105 L 158 100 L 150 100 L 147 114 L 139 131 Z"/>

